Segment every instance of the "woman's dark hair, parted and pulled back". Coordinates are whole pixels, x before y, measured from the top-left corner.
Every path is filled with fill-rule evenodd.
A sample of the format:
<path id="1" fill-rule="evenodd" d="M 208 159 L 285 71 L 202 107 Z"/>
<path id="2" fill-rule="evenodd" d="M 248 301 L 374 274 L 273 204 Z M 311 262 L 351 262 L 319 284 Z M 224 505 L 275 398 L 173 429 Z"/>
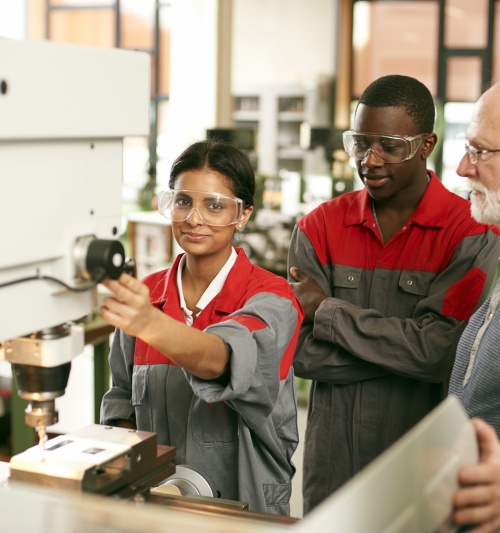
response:
<path id="1" fill-rule="evenodd" d="M 222 174 L 245 207 L 254 205 L 255 174 L 248 157 L 233 145 L 216 139 L 199 141 L 186 148 L 172 164 L 168 186 L 173 189 L 182 172 L 204 169 Z"/>

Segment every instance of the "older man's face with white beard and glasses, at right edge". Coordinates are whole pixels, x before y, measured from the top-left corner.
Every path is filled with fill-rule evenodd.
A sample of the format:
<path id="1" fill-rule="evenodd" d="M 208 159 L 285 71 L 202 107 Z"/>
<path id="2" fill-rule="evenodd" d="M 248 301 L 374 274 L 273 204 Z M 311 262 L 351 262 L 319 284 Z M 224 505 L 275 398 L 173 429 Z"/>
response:
<path id="1" fill-rule="evenodd" d="M 500 148 L 500 87 L 494 86 L 478 100 L 467 128 L 467 143 L 476 150 Z M 500 225 L 500 153 L 478 154 L 477 163 L 462 157 L 457 174 L 471 187 L 471 213 L 479 222 Z"/>

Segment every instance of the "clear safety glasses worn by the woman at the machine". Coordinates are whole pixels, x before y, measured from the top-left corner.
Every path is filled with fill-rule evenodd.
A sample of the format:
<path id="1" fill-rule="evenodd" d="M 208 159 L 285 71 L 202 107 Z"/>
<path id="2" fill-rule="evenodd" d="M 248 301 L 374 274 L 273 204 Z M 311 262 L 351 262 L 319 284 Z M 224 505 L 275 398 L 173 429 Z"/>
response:
<path id="1" fill-rule="evenodd" d="M 196 211 L 209 226 L 231 226 L 241 220 L 243 210 L 243 200 L 217 192 L 174 189 L 158 197 L 158 211 L 172 222 L 184 222 Z"/>

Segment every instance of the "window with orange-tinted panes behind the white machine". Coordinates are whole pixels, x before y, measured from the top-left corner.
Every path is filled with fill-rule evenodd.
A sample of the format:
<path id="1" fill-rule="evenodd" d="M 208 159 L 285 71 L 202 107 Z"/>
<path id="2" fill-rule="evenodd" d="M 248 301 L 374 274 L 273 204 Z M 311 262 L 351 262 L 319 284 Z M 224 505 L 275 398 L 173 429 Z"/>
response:
<path id="1" fill-rule="evenodd" d="M 169 98 L 170 2 L 47 0 L 46 37 L 81 45 L 142 50 L 151 55 L 149 138 L 124 142 L 125 204 L 151 209 Z"/>

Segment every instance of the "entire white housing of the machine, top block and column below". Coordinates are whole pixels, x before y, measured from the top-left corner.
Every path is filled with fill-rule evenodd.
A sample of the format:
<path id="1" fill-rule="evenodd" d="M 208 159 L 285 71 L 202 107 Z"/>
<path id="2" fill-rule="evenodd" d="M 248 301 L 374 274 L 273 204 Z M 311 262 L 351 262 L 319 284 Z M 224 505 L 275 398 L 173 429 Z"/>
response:
<path id="1" fill-rule="evenodd" d="M 149 133 L 144 52 L 0 39 L 0 344 L 96 306 L 81 239 L 122 233 L 123 138 Z M 23 281 L 25 280 L 25 281 Z"/>

